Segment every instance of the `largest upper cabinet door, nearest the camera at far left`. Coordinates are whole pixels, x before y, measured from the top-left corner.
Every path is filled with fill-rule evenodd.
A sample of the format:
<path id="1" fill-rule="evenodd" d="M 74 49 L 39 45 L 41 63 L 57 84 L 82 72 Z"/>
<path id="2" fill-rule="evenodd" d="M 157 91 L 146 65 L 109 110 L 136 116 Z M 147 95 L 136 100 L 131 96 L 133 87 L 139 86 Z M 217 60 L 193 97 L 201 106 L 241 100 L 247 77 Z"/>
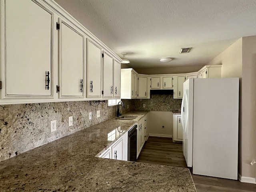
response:
<path id="1" fill-rule="evenodd" d="M 2 96 L 52 97 L 53 13 L 34 1 L 4 3 Z"/>

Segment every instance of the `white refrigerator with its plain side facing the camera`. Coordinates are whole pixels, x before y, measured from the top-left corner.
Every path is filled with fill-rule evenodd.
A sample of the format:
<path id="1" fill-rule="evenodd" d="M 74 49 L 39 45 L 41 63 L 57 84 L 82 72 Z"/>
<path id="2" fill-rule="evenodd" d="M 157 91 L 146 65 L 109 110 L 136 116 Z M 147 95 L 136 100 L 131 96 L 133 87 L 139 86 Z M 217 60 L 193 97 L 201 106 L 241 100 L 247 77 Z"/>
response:
<path id="1" fill-rule="evenodd" d="M 239 78 L 190 78 L 183 84 L 183 154 L 193 174 L 238 177 Z"/>

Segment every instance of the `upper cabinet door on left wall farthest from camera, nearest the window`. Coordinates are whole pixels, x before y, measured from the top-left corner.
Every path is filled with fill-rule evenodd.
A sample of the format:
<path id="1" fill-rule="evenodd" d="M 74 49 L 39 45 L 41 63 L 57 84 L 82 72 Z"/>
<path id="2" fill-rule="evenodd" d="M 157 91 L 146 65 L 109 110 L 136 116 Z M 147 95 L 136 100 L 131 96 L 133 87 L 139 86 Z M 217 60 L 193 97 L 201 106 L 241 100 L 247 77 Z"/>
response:
<path id="1" fill-rule="evenodd" d="M 121 96 L 121 64 L 114 60 L 114 98 Z"/>

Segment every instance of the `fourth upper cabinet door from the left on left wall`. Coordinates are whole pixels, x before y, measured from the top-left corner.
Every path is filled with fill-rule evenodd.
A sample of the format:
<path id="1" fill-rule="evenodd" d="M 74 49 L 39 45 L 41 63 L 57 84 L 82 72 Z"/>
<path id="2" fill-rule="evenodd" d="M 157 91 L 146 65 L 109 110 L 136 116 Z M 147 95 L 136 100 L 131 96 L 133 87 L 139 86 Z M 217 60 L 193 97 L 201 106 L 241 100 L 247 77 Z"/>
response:
<path id="1" fill-rule="evenodd" d="M 104 52 L 103 57 L 103 98 L 113 98 L 113 58 Z"/>

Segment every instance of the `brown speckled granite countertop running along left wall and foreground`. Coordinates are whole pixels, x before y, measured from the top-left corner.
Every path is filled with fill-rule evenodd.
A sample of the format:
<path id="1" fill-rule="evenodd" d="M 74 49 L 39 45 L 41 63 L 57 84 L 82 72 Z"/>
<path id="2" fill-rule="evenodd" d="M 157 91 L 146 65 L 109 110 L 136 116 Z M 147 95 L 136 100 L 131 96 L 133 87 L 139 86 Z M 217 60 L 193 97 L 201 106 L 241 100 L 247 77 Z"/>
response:
<path id="1" fill-rule="evenodd" d="M 115 141 L 109 132 L 127 131 L 146 113 L 130 112 L 138 118 L 113 118 L 0 162 L 1 191 L 196 192 L 187 168 L 96 157 Z"/>

